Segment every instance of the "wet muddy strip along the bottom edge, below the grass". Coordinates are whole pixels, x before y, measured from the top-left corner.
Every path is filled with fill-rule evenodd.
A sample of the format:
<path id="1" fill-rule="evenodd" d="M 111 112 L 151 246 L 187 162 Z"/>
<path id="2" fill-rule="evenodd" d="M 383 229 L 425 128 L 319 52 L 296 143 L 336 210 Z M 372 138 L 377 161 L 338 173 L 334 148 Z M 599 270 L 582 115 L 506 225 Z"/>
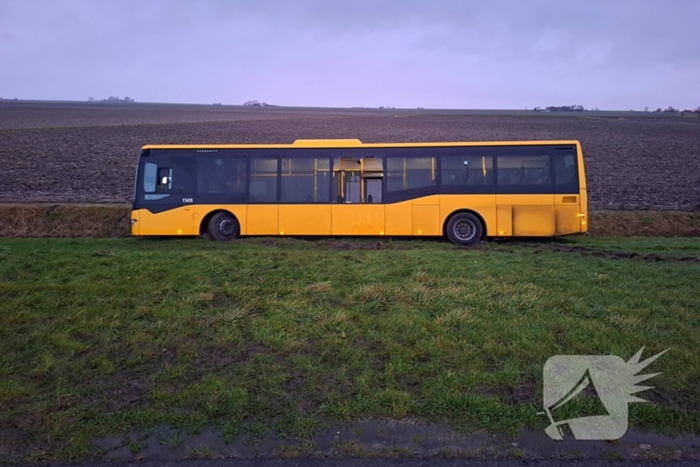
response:
<path id="1" fill-rule="evenodd" d="M 207 428 L 199 434 L 183 434 L 160 426 L 150 432 L 133 432 L 125 437 L 102 438 L 94 444 L 104 452 L 102 461 L 176 461 L 180 459 L 278 456 L 282 458 L 392 458 L 420 457 L 588 460 L 698 460 L 700 438 L 664 436 L 632 431 L 616 442 L 555 442 L 543 431 L 523 430 L 517 435 L 485 432 L 464 434 L 437 423 L 413 420 L 365 420 L 347 424 L 326 424 L 313 440 L 246 439 L 227 443 L 220 430 Z M 135 448 L 135 449 L 134 449 Z"/>

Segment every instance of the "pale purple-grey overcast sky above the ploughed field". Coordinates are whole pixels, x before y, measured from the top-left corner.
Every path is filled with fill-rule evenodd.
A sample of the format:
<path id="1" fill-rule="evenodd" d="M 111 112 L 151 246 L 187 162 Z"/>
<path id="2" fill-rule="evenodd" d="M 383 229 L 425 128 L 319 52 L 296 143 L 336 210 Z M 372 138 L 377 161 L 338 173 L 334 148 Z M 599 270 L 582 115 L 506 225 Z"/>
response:
<path id="1" fill-rule="evenodd" d="M 0 0 L 0 97 L 700 106 L 700 0 Z"/>

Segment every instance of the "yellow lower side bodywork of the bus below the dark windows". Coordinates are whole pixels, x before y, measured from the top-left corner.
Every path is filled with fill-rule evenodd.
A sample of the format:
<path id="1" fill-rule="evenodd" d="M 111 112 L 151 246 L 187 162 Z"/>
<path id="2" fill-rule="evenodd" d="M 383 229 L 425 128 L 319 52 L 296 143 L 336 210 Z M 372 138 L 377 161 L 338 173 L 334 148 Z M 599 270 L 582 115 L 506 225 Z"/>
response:
<path id="1" fill-rule="evenodd" d="M 139 221 L 145 212 L 145 222 L 159 224 L 158 230 L 141 233 L 140 222 L 136 222 L 132 234 L 194 235 L 204 218 L 215 211 L 228 211 L 236 216 L 242 235 L 440 236 L 449 216 L 459 211 L 479 215 L 489 237 L 545 236 L 544 232 L 568 235 L 584 231 L 581 214 L 585 209 L 581 207 L 580 196 L 528 195 L 527 199 L 522 199 L 524 195 L 498 196 L 501 197 L 498 204 L 497 195 L 442 195 L 437 201 L 431 196 L 386 205 L 197 205 L 192 230 L 183 229 L 179 218 L 180 211 L 188 212 L 187 206 L 159 214 L 141 209 L 133 212 L 132 219 Z M 554 205 L 547 205 L 552 198 Z M 166 213 L 170 214 L 166 216 Z"/>

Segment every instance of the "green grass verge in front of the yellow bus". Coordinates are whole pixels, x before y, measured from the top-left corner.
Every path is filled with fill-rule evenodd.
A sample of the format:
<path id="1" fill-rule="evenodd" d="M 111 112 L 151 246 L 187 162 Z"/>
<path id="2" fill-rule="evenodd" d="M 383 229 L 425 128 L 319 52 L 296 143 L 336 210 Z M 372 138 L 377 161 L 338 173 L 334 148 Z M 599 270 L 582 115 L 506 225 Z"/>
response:
<path id="1" fill-rule="evenodd" d="M 75 460 L 160 424 L 312 440 L 368 417 L 540 430 L 549 357 L 642 346 L 671 350 L 631 426 L 700 433 L 699 279 L 697 263 L 493 243 L 4 239 L 0 448 Z"/>

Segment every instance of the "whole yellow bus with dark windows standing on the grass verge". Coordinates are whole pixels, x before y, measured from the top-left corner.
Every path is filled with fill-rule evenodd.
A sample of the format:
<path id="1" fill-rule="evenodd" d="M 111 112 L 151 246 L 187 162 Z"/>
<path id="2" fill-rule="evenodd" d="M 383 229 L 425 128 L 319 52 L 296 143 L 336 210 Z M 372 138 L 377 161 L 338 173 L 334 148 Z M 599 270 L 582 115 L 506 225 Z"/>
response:
<path id="1" fill-rule="evenodd" d="M 493 237 L 586 232 L 578 141 L 147 145 L 135 236 Z"/>

